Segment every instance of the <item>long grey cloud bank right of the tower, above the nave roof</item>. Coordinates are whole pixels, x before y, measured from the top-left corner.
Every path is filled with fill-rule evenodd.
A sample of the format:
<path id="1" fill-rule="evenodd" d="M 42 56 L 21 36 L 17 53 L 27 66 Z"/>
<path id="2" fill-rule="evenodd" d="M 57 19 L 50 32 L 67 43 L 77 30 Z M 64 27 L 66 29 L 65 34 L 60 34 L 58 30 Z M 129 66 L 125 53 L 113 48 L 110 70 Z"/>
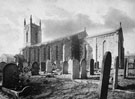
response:
<path id="1" fill-rule="evenodd" d="M 83 14 L 77 14 L 72 18 L 63 20 L 48 19 L 43 20 L 43 35 L 45 38 L 58 38 L 66 35 L 95 27 L 97 24 L 93 23 L 89 16 Z"/>

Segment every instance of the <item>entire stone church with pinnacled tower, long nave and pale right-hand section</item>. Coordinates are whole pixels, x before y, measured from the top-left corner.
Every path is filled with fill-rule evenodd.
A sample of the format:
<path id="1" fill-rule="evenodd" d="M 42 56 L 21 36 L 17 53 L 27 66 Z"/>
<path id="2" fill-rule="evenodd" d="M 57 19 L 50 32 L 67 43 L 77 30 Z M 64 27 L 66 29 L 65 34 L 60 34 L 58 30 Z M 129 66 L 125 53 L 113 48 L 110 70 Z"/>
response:
<path id="1" fill-rule="evenodd" d="M 100 68 L 106 51 L 112 53 L 113 60 L 116 56 L 119 56 L 119 66 L 123 67 L 124 39 L 122 27 L 113 32 L 93 37 L 89 37 L 86 30 L 84 30 L 45 43 L 41 41 L 41 31 L 41 21 L 39 25 L 33 24 L 32 16 L 30 17 L 30 24 L 26 24 L 26 20 L 24 20 L 25 46 L 22 53 L 29 65 L 32 66 L 36 62 L 41 71 L 45 71 L 47 60 L 60 65 L 60 62 L 69 61 L 73 58 L 79 61 L 85 58 L 88 68 L 90 59 L 94 59 L 95 66 Z"/>

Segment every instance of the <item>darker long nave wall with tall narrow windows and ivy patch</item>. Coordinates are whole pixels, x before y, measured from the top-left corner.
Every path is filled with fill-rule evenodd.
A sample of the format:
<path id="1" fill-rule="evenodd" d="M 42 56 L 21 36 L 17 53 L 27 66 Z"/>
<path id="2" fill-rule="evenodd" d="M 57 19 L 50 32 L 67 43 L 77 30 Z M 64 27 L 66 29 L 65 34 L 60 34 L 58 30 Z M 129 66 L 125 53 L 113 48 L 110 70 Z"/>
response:
<path id="1" fill-rule="evenodd" d="M 25 59 L 33 64 L 34 62 L 46 62 L 49 59 L 53 62 L 68 61 L 73 57 L 80 61 L 83 56 L 82 42 L 86 37 L 86 31 L 76 35 L 60 38 L 51 42 L 33 45 L 23 49 Z M 82 55 L 81 55 L 82 54 Z"/>

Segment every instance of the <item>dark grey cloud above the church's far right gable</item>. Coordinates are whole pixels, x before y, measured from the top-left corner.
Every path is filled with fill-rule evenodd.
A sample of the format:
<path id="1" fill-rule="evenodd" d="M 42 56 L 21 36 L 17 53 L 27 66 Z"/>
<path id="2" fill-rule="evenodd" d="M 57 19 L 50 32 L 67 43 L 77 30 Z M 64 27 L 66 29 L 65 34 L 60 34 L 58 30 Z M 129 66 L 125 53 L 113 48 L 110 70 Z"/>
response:
<path id="1" fill-rule="evenodd" d="M 133 31 L 135 28 L 135 20 L 118 9 L 110 9 L 104 16 L 104 19 L 107 28 L 117 28 L 120 22 L 122 22 L 122 27 L 126 32 Z"/>

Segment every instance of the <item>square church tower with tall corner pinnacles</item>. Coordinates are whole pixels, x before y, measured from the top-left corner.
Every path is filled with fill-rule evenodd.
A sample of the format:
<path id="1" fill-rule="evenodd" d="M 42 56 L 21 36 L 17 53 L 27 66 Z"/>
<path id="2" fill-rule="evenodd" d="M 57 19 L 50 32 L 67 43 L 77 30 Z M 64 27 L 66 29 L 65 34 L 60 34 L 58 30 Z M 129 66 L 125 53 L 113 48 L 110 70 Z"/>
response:
<path id="1" fill-rule="evenodd" d="M 41 43 L 41 20 L 39 25 L 32 23 L 32 15 L 30 16 L 29 24 L 26 24 L 24 19 L 24 43 L 25 46 Z"/>

